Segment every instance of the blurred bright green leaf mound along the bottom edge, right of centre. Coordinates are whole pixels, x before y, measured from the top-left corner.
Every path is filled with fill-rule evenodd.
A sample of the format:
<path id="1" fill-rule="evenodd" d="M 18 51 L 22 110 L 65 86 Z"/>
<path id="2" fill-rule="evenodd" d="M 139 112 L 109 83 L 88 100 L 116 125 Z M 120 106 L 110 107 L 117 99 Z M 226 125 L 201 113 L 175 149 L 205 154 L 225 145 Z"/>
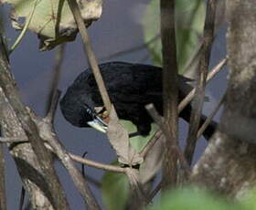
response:
<path id="1" fill-rule="evenodd" d="M 206 191 L 187 188 L 167 192 L 160 204 L 148 210 L 245 210 Z"/>

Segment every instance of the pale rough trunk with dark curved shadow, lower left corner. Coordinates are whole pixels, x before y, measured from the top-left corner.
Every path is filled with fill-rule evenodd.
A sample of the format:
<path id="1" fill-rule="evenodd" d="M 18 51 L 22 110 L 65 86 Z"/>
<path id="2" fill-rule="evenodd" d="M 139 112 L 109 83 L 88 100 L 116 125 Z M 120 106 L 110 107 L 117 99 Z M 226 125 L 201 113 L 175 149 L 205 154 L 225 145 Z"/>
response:
<path id="1" fill-rule="evenodd" d="M 5 102 L 5 95 L 2 89 L 0 89 L 0 107 L 1 126 L 4 136 L 24 137 L 24 139 L 27 139 L 14 111 Z M 37 156 L 33 152 L 31 145 L 28 142 L 9 143 L 8 147 L 14 157 L 22 182 L 30 195 L 32 207 L 38 210 L 53 209 L 44 194 L 47 184 L 45 184 Z"/>

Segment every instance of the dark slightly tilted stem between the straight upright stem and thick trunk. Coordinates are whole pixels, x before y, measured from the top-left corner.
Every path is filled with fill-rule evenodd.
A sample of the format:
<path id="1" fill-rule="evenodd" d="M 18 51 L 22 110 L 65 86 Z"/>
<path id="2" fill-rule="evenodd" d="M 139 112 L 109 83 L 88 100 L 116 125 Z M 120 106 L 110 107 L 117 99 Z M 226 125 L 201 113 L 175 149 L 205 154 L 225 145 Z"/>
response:
<path id="1" fill-rule="evenodd" d="M 189 130 L 187 136 L 187 146 L 185 156 L 187 162 L 191 165 L 193 154 L 197 143 L 197 130 L 201 119 L 201 112 L 205 98 L 205 87 L 208 75 L 208 65 L 211 52 L 211 46 L 214 41 L 214 21 L 216 14 L 217 1 L 208 0 L 207 16 L 204 27 L 204 42 L 199 59 L 199 68 L 197 71 L 196 97 L 193 101 L 193 110 L 190 116 Z"/>

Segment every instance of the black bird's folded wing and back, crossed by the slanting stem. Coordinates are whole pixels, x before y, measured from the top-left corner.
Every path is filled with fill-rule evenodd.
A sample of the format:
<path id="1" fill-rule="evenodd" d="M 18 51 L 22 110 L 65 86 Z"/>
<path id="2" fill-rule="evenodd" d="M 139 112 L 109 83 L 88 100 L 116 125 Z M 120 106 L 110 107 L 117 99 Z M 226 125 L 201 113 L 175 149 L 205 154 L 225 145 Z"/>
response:
<path id="1" fill-rule="evenodd" d="M 100 65 L 100 68 L 102 78 L 114 103 L 145 105 L 162 101 L 162 68 L 125 62 L 105 63 Z M 90 72 L 91 70 L 87 69 L 80 80 L 83 81 L 85 92 L 91 95 L 97 106 L 101 106 L 100 92 Z M 187 81 L 191 79 L 179 77 L 180 86 L 186 86 Z"/>

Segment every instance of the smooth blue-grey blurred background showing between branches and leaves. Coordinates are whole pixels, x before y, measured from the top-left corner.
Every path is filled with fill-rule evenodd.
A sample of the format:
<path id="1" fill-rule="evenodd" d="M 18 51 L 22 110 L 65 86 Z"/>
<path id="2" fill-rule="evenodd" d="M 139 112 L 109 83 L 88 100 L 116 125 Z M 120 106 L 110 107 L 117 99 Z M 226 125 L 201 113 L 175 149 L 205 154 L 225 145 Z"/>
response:
<path id="1" fill-rule="evenodd" d="M 109 58 L 116 52 L 141 46 L 144 43 L 141 19 L 147 4 L 148 0 L 104 1 L 101 19 L 93 23 L 89 28 L 92 47 L 100 62 L 109 60 L 140 62 L 144 60 L 144 63 L 151 64 L 146 48 L 134 51 L 133 53 L 123 54 L 119 57 Z M 16 32 L 11 27 L 7 16 L 8 10 L 8 6 L 1 8 L 1 11 L 4 11 L 5 36 L 8 37 L 10 43 L 13 43 L 19 32 Z M 221 58 L 225 57 L 225 32 L 226 26 L 220 26 L 212 49 L 210 67 L 215 66 Z M 10 58 L 12 72 L 16 78 L 22 99 L 41 116 L 44 115 L 49 82 L 52 78 L 54 52 L 55 50 L 39 52 L 37 35 L 28 32 Z M 70 42 L 66 46 L 59 89 L 64 92 L 73 79 L 85 68 L 88 68 L 88 62 L 82 49 L 80 36 L 78 36 L 76 41 Z M 209 113 L 215 107 L 216 102 L 219 101 L 219 97 L 227 85 L 226 78 L 227 70 L 222 70 L 208 84 L 207 94 L 210 101 L 205 103 L 205 113 Z M 218 121 L 219 114 L 215 119 Z M 180 121 L 180 125 L 180 139 L 183 142 L 187 134 L 187 124 L 184 121 Z M 88 152 L 88 158 L 101 163 L 112 163 L 115 160 L 112 148 L 103 134 L 91 129 L 73 127 L 64 120 L 59 109 L 55 119 L 55 127 L 59 134 L 59 139 L 69 152 L 79 155 L 83 152 Z M 200 139 L 196 159 L 203 152 L 205 145 L 205 140 Z M 21 182 L 11 156 L 7 150 L 5 153 L 8 209 L 17 209 Z M 69 180 L 69 175 L 59 163 L 57 163 L 57 168 L 61 174 L 60 179 L 67 190 L 71 209 L 80 209 L 83 204 L 80 194 L 76 191 Z M 90 167 L 86 167 L 86 173 L 99 181 L 103 174 L 102 171 Z M 91 184 L 91 187 L 96 197 L 101 201 L 101 192 L 93 184 Z"/>

